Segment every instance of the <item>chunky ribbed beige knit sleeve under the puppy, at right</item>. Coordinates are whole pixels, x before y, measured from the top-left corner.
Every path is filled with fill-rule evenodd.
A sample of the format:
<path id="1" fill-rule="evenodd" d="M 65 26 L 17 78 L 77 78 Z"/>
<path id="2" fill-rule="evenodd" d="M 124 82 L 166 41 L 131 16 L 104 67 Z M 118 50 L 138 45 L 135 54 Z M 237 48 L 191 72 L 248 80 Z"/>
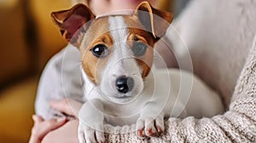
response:
<path id="1" fill-rule="evenodd" d="M 108 142 L 256 142 L 256 37 L 229 111 L 212 118 L 169 118 L 158 138 L 139 139 L 133 126 L 106 125 Z"/>

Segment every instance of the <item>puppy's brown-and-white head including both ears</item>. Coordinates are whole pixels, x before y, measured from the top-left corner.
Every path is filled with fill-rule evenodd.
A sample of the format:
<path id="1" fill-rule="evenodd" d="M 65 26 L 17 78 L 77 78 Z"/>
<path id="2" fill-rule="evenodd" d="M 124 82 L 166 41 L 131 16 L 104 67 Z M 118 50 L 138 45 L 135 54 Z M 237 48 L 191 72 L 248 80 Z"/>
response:
<path id="1" fill-rule="evenodd" d="M 101 94 L 116 103 L 133 100 L 143 91 L 143 79 L 153 63 L 153 47 L 172 21 L 172 14 L 147 2 L 131 15 L 96 18 L 78 4 L 54 12 L 63 37 L 79 48 L 83 72 Z"/>

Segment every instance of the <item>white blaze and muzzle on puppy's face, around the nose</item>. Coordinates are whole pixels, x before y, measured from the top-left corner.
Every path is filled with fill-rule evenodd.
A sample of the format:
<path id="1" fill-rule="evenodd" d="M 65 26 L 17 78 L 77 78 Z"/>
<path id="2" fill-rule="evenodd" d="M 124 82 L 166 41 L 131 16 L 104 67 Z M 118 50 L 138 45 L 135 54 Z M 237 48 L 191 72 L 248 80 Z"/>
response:
<path id="1" fill-rule="evenodd" d="M 133 56 L 131 49 L 127 44 L 128 30 L 125 20 L 121 16 L 109 17 L 109 31 L 113 38 L 113 53 L 111 54 L 108 64 L 102 72 L 102 82 L 100 89 L 102 94 L 117 103 L 125 103 L 134 99 L 137 94 L 143 90 L 143 78 L 141 69 L 137 66 L 137 61 Z M 132 77 L 135 81 L 135 87 L 126 94 L 119 94 L 115 89 L 115 81 L 120 76 Z M 115 97 L 131 97 L 118 99 Z"/>

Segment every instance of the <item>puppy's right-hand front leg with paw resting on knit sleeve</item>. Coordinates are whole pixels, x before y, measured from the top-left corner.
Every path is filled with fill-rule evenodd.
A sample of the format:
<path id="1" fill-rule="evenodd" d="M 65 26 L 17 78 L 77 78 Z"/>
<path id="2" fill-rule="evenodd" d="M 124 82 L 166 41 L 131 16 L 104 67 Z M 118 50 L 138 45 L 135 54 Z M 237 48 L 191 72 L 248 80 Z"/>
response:
<path id="1" fill-rule="evenodd" d="M 165 129 L 164 112 L 155 102 L 149 102 L 137 119 L 137 135 L 154 137 L 163 133 Z"/>

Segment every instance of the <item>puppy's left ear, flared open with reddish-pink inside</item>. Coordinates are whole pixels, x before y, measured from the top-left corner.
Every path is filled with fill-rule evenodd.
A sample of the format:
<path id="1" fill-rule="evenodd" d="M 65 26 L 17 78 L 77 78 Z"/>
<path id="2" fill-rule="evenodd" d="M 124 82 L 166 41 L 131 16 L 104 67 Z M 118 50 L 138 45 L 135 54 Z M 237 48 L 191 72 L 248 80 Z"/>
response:
<path id="1" fill-rule="evenodd" d="M 76 31 L 83 26 L 86 31 L 90 25 L 90 20 L 95 19 L 95 15 L 84 4 L 77 4 L 71 9 L 61 10 L 51 13 L 55 24 L 59 26 L 61 34 L 68 42 L 78 46 L 79 33 Z"/>

